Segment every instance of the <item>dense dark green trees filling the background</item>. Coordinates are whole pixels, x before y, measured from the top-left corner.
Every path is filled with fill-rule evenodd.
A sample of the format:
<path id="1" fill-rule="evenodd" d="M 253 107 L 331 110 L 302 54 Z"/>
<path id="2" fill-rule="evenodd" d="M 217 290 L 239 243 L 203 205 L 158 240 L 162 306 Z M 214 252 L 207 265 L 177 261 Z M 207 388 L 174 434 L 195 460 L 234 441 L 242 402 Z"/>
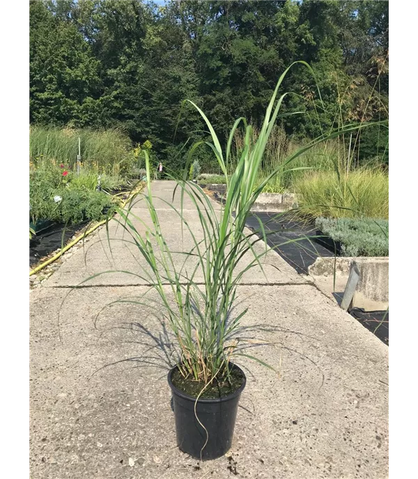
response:
<path id="1" fill-rule="evenodd" d="M 190 105 L 179 120 L 183 100 L 203 108 L 224 145 L 238 116 L 261 125 L 295 60 L 313 66 L 323 104 L 311 75 L 291 70 L 278 118 L 287 134 L 387 118 L 387 10 L 387 0 L 30 0 L 30 121 L 118 127 L 179 171 L 184 144 L 208 139 Z M 295 111 L 306 113 L 286 116 Z M 387 130 L 364 130 L 353 148 L 361 163 L 387 162 Z M 209 149 L 199 162 L 220 173 Z"/>

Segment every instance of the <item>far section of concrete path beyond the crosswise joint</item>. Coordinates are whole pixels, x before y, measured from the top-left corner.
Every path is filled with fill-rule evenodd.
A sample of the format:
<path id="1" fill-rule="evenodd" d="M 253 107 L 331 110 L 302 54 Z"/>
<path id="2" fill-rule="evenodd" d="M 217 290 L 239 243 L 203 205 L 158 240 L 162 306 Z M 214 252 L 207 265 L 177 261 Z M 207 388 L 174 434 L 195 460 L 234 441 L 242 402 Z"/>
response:
<path id="1" fill-rule="evenodd" d="M 165 185 L 166 183 L 169 183 L 168 187 Z M 160 194 L 162 198 L 164 197 L 167 201 L 170 201 L 172 193 L 173 182 L 153 182 L 153 194 Z M 217 212 L 219 212 L 219 205 L 212 200 L 211 203 L 214 207 L 218 208 Z M 187 258 L 183 253 L 191 251 L 195 246 L 191 233 L 189 233 L 186 226 L 184 226 L 182 232 L 180 217 L 170 208 L 162 207 L 161 209 L 157 209 L 157 214 L 164 239 L 167 241 L 169 250 L 173 252 L 173 263 L 176 271 L 179 272 L 186 261 L 185 271 L 192 274 L 198 260 L 195 256 Z M 201 225 L 199 214 L 196 212 L 194 205 L 191 205 L 191 209 L 184 210 L 183 217 L 185 221 L 187 221 L 190 230 L 192 230 L 196 242 L 201 242 L 203 239 L 203 226 Z M 147 226 L 152 227 L 148 210 L 138 207 L 137 203 L 132 207 L 130 221 L 132 221 L 141 237 L 145 237 Z M 251 230 L 246 228 L 245 234 L 251 235 Z M 95 274 L 100 274 L 100 276 L 92 278 L 88 281 L 88 285 L 148 284 L 149 281 L 153 279 L 147 276 L 147 274 L 150 274 L 150 267 L 137 246 L 132 244 L 130 234 L 115 220 L 109 222 L 109 238 L 111 247 L 109 247 L 107 230 L 104 226 L 93 233 L 93 236 L 89 237 L 88 244 L 86 244 L 83 249 L 75 251 L 71 261 L 66 262 L 60 267 L 58 272 L 45 282 L 45 286 L 75 286 Z M 155 244 L 155 242 L 153 242 L 153 244 Z M 261 254 L 263 253 L 264 247 L 263 242 L 259 242 L 254 246 L 254 249 L 258 254 Z M 235 268 L 235 274 L 241 272 L 253 258 L 251 253 L 247 253 L 240 261 L 240 265 Z M 289 284 L 308 283 L 312 281 L 311 278 L 307 276 L 298 275 L 295 270 L 274 251 L 268 253 L 268 255 L 261 260 L 261 263 L 263 264 L 264 272 L 258 266 L 252 268 L 242 277 L 243 283 Z M 102 274 L 106 271 L 116 270 L 118 270 L 118 272 Z M 173 270 L 173 268 L 171 268 L 171 270 Z M 200 269 L 196 276 L 194 276 L 194 281 L 198 283 L 203 281 L 203 272 Z"/>

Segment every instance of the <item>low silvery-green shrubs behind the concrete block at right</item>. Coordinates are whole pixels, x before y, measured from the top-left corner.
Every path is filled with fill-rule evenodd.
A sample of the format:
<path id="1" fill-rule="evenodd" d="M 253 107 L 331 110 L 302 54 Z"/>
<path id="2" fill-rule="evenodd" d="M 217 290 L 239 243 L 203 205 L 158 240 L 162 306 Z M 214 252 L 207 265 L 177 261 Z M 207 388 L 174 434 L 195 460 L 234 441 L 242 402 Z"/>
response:
<path id="1" fill-rule="evenodd" d="M 341 256 L 389 256 L 386 219 L 323 218 L 315 221 L 325 235 L 341 243 Z"/>

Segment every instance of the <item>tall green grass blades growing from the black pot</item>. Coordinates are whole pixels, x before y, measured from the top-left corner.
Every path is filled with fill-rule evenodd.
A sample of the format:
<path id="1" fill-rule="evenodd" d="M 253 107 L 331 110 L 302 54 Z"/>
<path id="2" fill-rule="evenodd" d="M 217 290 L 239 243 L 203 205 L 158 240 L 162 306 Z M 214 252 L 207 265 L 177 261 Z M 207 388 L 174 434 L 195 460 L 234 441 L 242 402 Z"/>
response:
<path id="1" fill-rule="evenodd" d="M 296 63 L 302 63 L 313 73 L 307 63 Z M 237 288 L 242 276 L 254 267 L 263 269 L 261 260 L 268 252 L 265 242 L 263 248 L 259 248 L 258 245 L 256 247 L 256 243 L 265 239 L 268 234 L 265 233 L 262 223 L 260 226 L 263 237 L 259 238 L 256 233 L 248 234 L 245 231 L 245 221 L 258 195 L 279 171 L 291 171 L 293 160 L 318 143 L 340 133 L 321 136 L 310 141 L 307 146 L 293 151 L 277 169 L 266 175 L 263 181 L 259 181 L 258 171 L 266 144 L 287 95 L 284 93 L 278 97 L 279 87 L 290 68 L 279 78 L 258 134 L 254 135 L 253 127 L 247 124 L 245 118 L 238 118 L 231 129 L 225 150 L 222 149 L 206 115 L 190 101 L 206 123 L 212 141 L 194 143 L 187 156 L 183 178 L 175 178 L 167 173 L 167 176 L 176 182 L 175 194 L 180 198 L 180 206 L 176 207 L 173 201 L 153 196 L 152 166 L 148 152 L 144 151 L 146 187 L 145 194 L 139 201 L 146 205 L 147 218 L 135 214 L 139 211 L 134 209 L 138 198 L 132 199 L 126 207 L 119 208 L 119 216 L 115 218 L 115 221 L 129 233 L 132 242 L 145 260 L 141 272 L 129 274 L 145 280 L 147 285 L 157 292 L 159 298 L 156 301 L 145 294 L 139 299 L 124 298 L 116 302 L 149 306 L 163 318 L 164 323 L 171 329 L 176 343 L 171 360 L 176 363 L 184 378 L 201 384 L 201 393 L 214 380 L 228 381 L 231 374 L 230 362 L 235 357 L 245 356 L 272 368 L 272 365 L 248 352 L 248 348 L 254 347 L 256 340 L 248 339 L 248 330 L 242 333 L 240 328 L 240 320 L 247 313 L 247 309 L 239 314 L 235 313 Z M 235 132 L 240 127 L 244 129 L 243 143 L 238 155 L 234 152 L 235 168 L 231 173 L 229 168 L 232 159 L 231 146 Z M 350 132 L 356 128 L 358 126 L 344 131 Z M 201 146 L 211 148 L 227 187 L 225 204 L 220 211 L 215 210 L 212 201 L 204 194 L 199 184 L 187 180 L 193 155 Z M 199 236 L 187 221 L 185 198 L 194 205 L 199 218 Z M 161 202 L 164 203 L 164 210 L 171 210 L 180 219 L 183 235 L 187 233 L 192 239 L 189 251 L 171 250 L 162 233 L 156 201 L 160 205 Z M 144 209 L 140 211 L 144 212 Z M 176 260 L 179 254 L 184 257 L 180 265 Z M 115 271 L 102 274 L 113 272 Z M 90 278 L 85 281 L 88 279 Z"/>

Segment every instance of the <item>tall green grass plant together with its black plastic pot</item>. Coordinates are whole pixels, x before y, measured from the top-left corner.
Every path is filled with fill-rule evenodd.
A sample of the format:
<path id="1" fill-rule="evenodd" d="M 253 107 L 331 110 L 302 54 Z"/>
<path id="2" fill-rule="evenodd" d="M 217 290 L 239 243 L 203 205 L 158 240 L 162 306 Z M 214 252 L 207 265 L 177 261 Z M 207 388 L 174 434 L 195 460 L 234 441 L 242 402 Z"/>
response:
<path id="1" fill-rule="evenodd" d="M 304 64 L 312 72 L 307 63 L 295 63 Z M 251 268 L 262 269 L 261 259 L 269 250 L 264 242 L 260 253 L 255 245 L 262 239 L 255 233 L 247 234 L 245 231 L 245 220 L 251 206 L 274 175 L 283 171 L 284 166 L 291 168 L 293 159 L 321 141 L 365 126 L 347 127 L 311 141 L 293 152 L 277 171 L 258 184 L 257 173 L 265 146 L 286 97 L 286 93 L 278 95 L 279 87 L 289 68 L 277 82 L 258 136 L 254 138 L 251 125 L 244 118 L 238 118 L 224 151 L 208 118 L 196 104 L 190 102 L 205 121 L 212 141 L 200 141 L 192 146 L 182 178 L 174 178 L 167 173 L 171 180 L 176 181 L 175 194 L 179 195 L 180 207 L 165 201 L 167 205 L 164 208 L 176 213 L 193 244 L 189 251 L 182 252 L 185 256 L 182 266 L 178 267 L 178 262 L 174 260 L 178 252 L 171 251 L 162 233 L 154 205 L 152 166 L 146 150 L 146 187 L 141 193 L 141 201 L 146 203 L 147 221 L 132 211 L 134 199 L 120 208 L 118 217 L 115 217 L 130 234 L 144 258 L 144 267 L 138 276 L 146 278 L 147 284 L 157 293 L 157 300 L 144 295 L 139 301 L 132 300 L 132 303 L 149 306 L 160 314 L 164 328 L 171 331 L 176 345 L 168 382 L 173 399 L 178 447 L 200 460 L 220 457 L 231 447 L 238 402 L 246 384 L 245 373 L 236 361 L 245 357 L 276 370 L 274 365 L 249 354 L 252 351 L 249 348 L 254 347 L 256 341 L 246 339 L 240 328 L 240 320 L 247 310 L 235 313 L 237 289 L 242 276 Z M 236 166 L 231 175 L 231 146 L 238 127 L 245 129 L 245 144 L 240 156 L 235 159 Z M 227 192 L 221 210 L 215 210 L 203 189 L 187 179 L 194 152 L 203 144 L 210 146 L 225 176 Z M 201 239 L 196 237 L 183 215 L 185 198 L 192 202 L 198 214 L 199 234 L 203 235 Z M 159 201 L 164 200 L 160 198 Z M 145 234 L 139 233 L 134 220 L 141 224 L 141 228 L 146 228 Z M 262 223 L 260 227 L 263 229 Z M 264 239 L 266 235 L 263 230 Z M 189 260 L 192 260 L 192 268 L 185 267 Z M 129 299 L 123 301 L 129 302 Z"/>

